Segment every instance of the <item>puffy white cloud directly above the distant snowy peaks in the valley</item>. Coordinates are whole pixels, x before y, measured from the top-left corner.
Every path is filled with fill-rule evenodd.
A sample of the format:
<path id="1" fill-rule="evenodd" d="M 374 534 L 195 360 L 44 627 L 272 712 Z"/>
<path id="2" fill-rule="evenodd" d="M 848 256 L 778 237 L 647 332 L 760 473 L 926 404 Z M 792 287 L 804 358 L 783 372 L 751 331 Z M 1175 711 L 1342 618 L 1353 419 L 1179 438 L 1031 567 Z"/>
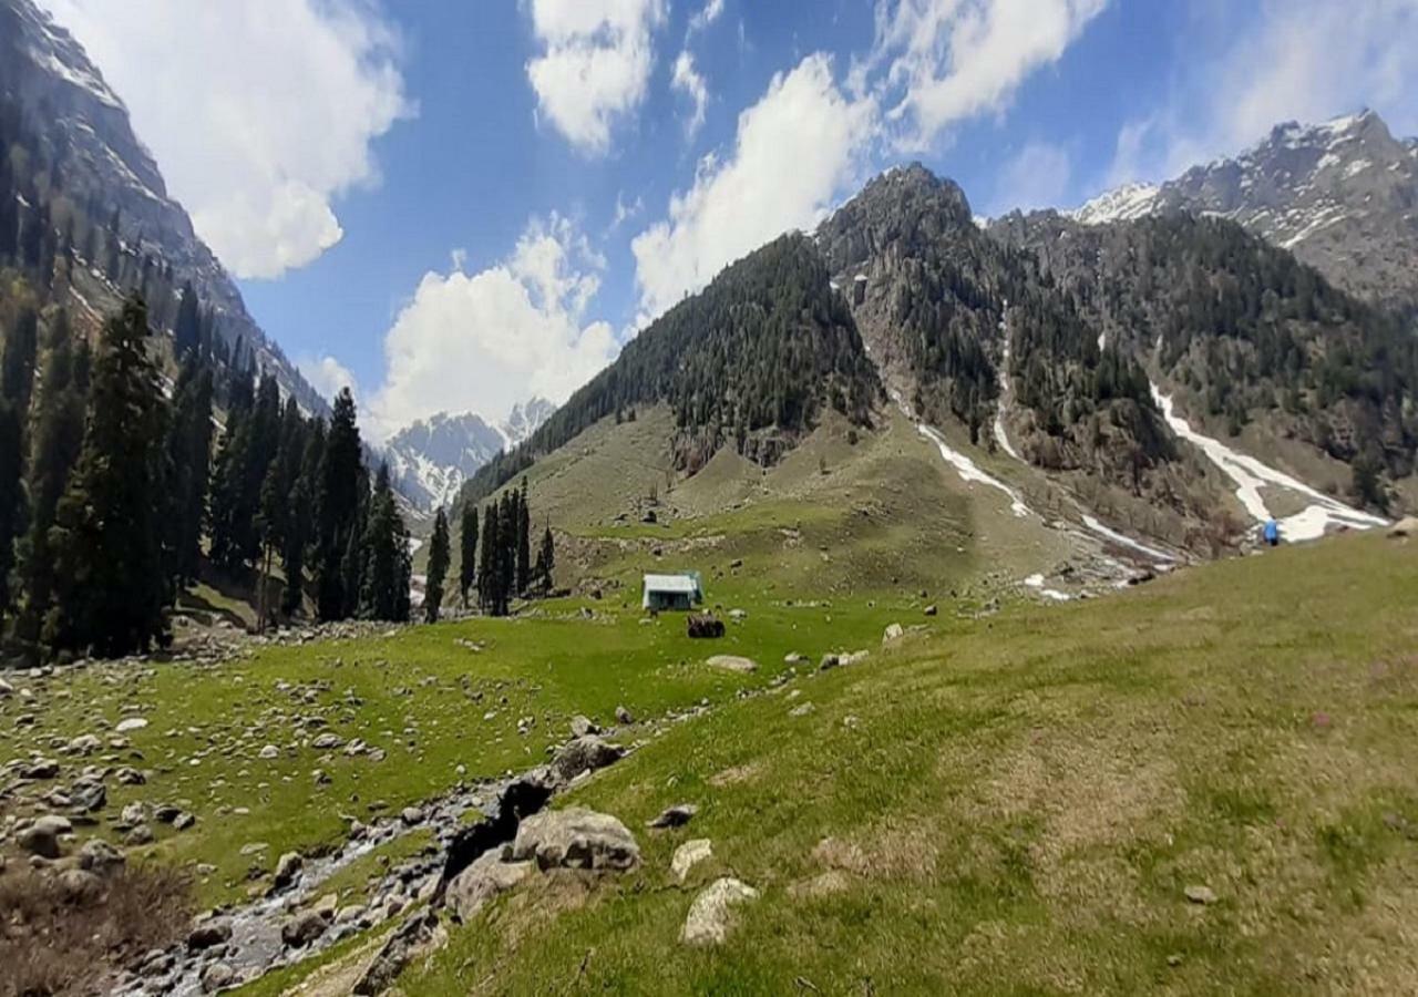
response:
<path id="1" fill-rule="evenodd" d="M 488 269 L 424 274 L 384 336 L 370 434 L 440 411 L 501 418 L 535 394 L 564 400 L 617 352 L 610 325 L 583 325 L 604 268 L 576 225 L 553 214 Z"/>

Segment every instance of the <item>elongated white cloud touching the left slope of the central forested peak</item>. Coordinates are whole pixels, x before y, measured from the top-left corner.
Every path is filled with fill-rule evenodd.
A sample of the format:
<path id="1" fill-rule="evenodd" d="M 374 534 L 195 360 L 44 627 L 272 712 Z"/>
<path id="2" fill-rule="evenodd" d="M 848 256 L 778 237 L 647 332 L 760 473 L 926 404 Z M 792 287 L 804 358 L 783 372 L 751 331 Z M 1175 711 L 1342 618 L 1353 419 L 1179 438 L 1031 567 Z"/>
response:
<path id="1" fill-rule="evenodd" d="M 700 160 L 693 186 L 671 199 L 669 217 L 632 241 L 641 323 L 750 250 L 814 225 L 856 179 L 873 118 L 871 101 L 838 91 L 822 54 L 777 74 L 739 115 L 733 155 Z"/>

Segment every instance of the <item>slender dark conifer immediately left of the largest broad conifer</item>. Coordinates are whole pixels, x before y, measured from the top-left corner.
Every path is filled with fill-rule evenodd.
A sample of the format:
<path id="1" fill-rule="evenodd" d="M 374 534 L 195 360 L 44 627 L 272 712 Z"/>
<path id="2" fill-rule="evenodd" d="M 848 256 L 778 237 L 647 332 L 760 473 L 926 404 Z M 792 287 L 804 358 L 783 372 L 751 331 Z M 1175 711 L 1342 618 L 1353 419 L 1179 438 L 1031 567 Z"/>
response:
<path id="1" fill-rule="evenodd" d="M 50 529 L 54 526 L 55 506 L 84 444 L 91 357 L 88 340 L 79 336 L 75 343 L 74 339 L 68 316 L 61 311 L 48 336 L 48 357 L 34 428 L 34 457 L 27 481 L 30 528 L 18 552 L 23 603 L 16 620 L 16 635 L 30 647 L 40 640 L 40 627 L 54 591 Z"/>

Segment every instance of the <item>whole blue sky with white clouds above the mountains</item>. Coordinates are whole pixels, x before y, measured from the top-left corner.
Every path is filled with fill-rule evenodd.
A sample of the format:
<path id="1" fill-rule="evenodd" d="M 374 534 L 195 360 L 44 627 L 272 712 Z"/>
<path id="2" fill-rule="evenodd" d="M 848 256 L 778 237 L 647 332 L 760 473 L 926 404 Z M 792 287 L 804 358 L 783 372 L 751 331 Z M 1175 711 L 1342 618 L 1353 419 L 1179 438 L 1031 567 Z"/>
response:
<path id="1" fill-rule="evenodd" d="M 920 160 L 1075 207 L 1283 121 L 1418 135 L 1418 0 L 40 0 L 373 438 L 564 400 Z"/>

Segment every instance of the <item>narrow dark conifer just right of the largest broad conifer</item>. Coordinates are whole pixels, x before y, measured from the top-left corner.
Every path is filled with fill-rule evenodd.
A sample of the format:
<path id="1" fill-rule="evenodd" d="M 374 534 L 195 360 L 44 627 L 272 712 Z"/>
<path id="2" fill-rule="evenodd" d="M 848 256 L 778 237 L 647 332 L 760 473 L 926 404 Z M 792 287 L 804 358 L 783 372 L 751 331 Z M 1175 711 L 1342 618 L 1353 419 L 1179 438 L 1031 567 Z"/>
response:
<path id="1" fill-rule="evenodd" d="M 211 474 L 211 369 L 199 363 L 194 353 L 187 353 L 173 389 L 169 441 L 173 462 L 169 528 L 173 579 L 179 586 L 197 580 L 201 560 L 201 528 L 207 519 Z"/>

